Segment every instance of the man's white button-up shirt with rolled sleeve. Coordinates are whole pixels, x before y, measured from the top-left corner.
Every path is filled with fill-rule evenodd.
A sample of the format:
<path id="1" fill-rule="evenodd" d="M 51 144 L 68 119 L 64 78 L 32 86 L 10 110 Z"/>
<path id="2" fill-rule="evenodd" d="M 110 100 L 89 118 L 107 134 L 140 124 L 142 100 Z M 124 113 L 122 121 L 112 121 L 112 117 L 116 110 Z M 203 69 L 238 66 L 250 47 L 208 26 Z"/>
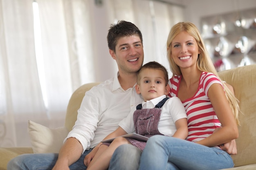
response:
<path id="1" fill-rule="evenodd" d="M 78 110 L 77 120 L 64 139 L 74 137 L 83 146 L 83 152 L 94 148 L 108 134 L 118 128 L 119 122 L 127 117 L 131 108 L 143 101 L 132 88 L 124 91 L 118 81 L 118 74 L 94 86 L 85 93 Z"/>

